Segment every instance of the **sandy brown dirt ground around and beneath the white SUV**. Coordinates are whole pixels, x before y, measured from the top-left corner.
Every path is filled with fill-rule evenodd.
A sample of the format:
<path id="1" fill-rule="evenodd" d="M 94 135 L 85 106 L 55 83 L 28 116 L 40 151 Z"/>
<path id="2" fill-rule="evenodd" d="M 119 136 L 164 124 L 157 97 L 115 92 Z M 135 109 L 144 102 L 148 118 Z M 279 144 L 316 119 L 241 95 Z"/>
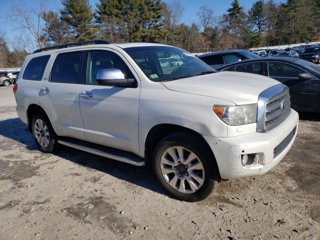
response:
<path id="1" fill-rule="evenodd" d="M 37 150 L 0 87 L 0 239 L 320 239 L 320 114 L 263 176 L 172 199 L 146 167 L 68 147 Z"/>

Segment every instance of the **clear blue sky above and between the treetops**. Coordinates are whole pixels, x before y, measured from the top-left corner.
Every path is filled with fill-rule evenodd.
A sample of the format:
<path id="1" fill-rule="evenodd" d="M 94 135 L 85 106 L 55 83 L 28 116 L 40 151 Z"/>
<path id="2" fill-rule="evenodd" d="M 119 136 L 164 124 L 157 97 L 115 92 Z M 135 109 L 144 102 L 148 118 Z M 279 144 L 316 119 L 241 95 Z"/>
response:
<path id="1" fill-rule="evenodd" d="M 171 0 L 163 0 L 166 3 L 169 3 Z M 239 3 L 244 6 L 244 10 L 247 11 L 251 8 L 252 3 L 256 0 L 239 0 Z M 275 3 L 284 2 L 285 0 L 274 0 Z M 32 8 L 35 7 L 39 0 L 18 0 L 17 2 L 22 2 L 23 7 Z M 59 8 L 62 8 L 62 4 L 60 0 L 47 0 L 47 9 L 58 11 Z M 95 3 L 99 2 L 99 0 L 89 0 L 92 9 L 95 8 Z M 181 17 L 181 22 L 185 24 L 189 24 L 192 22 L 198 23 L 198 19 L 196 16 L 196 12 L 202 5 L 208 5 L 213 9 L 214 15 L 219 16 L 226 12 L 226 9 L 230 7 L 232 0 L 180 0 L 180 3 L 184 6 L 183 16 Z M 16 26 L 13 26 L 11 22 L 9 22 L 8 16 L 10 14 L 10 6 L 12 4 L 12 0 L 0 0 L 0 9 L 1 9 L 1 17 L 0 17 L 0 33 L 5 34 L 6 41 L 9 43 L 13 42 L 18 35 L 18 29 Z M 7 15 L 6 17 L 4 17 Z"/>

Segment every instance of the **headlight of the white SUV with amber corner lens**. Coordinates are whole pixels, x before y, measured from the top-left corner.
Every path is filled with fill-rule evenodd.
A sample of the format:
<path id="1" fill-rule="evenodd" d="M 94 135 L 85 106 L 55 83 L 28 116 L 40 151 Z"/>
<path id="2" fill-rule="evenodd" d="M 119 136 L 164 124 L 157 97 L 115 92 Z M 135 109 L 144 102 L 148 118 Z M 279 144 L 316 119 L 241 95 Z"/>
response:
<path id="1" fill-rule="evenodd" d="M 225 123 L 237 126 L 256 122 L 257 104 L 214 105 L 213 111 Z"/>

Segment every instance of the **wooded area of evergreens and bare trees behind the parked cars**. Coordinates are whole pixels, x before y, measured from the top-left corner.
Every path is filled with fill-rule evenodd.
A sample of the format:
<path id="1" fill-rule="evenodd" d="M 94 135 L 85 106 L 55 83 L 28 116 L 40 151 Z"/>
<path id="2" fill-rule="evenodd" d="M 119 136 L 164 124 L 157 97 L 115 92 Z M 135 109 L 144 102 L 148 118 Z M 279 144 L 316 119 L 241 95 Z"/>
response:
<path id="1" fill-rule="evenodd" d="M 181 23 L 179 0 L 99 0 L 94 9 L 88 0 L 61 3 L 58 12 L 47 10 L 45 0 L 31 11 L 12 3 L 9 20 L 25 34 L 12 51 L 0 36 L 0 67 L 21 65 L 32 48 L 90 39 L 156 41 L 190 52 L 320 40 L 320 0 L 258 0 L 248 12 L 233 0 L 221 16 L 214 14 L 214 4 L 203 5 L 196 9 L 197 21 L 188 23 Z"/>

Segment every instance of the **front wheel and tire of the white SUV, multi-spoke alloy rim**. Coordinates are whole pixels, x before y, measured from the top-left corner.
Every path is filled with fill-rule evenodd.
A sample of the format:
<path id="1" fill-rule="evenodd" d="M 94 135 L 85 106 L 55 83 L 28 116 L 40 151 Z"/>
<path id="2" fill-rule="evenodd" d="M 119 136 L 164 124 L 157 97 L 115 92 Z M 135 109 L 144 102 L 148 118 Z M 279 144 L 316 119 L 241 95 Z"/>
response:
<path id="1" fill-rule="evenodd" d="M 216 164 L 213 163 L 215 159 L 212 159 L 209 150 L 203 144 L 203 139 L 188 132 L 172 133 L 164 137 L 155 147 L 152 159 L 153 171 L 161 186 L 173 197 L 183 201 L 199 201 L 209 196 L 218 184 L 214 180 L 217 172 L 214 169 Z M 178 158 L 176 160 L 171 157 L 174 152 Z M 178 152 L 182 152 L 182 161 L 179 161 L 181 153 Z"/>

